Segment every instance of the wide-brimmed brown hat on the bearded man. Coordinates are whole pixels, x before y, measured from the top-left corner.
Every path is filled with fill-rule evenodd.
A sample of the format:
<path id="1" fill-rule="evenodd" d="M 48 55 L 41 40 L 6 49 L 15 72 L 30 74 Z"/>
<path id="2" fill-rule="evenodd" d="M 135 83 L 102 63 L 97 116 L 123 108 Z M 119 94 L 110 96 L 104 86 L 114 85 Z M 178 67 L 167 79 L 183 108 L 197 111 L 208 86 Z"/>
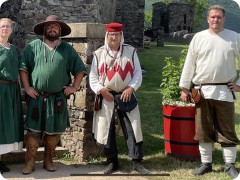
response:
<path id="1" fill-rule="evenodd" d="M 59 17 L 56 16 L 56 15 L 50 15 L 46 18 L 45 21 L 36 24 L 33 27 L 33 32 L 37 35 L 43 35 L 44 27 L 48 23 L 58 23 L 59 26 L 61 27 L 61 36 L 66 36 L 66 35 L 69 35 L 71 33 L 71 28 L 67 24 L 65 24 L 64 22 L 60 21 Z"/>

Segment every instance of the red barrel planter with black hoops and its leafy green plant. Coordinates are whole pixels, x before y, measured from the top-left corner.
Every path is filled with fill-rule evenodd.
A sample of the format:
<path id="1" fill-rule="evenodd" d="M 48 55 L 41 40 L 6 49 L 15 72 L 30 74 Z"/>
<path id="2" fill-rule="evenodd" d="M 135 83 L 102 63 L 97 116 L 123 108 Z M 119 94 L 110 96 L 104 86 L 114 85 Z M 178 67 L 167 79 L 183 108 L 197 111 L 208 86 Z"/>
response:
<path id="1" fill-rule="evenodd" d="M 187 51 L 188 46 L 181 51 L 177 60 L 165 57 L 166 65 L 162 70 L 160 84 L 163 100 L 164 147 L 166 155 L 184 161 L 199 161 L 198 142 L 194 140 L 195 107 L 194 104 L 180 100 L 179 81 Z"/>

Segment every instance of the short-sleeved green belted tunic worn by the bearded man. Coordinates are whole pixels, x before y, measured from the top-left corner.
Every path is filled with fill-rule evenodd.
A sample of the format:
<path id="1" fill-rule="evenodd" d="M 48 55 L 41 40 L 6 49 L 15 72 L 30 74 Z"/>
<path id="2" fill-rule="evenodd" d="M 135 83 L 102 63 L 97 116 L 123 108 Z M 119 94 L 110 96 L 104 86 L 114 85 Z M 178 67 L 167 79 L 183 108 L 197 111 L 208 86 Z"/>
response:
<path id="1" fill-rule="evenodd" d="M 42 40 L 37 39 L 24 49 L 20 70 L 28 73 L 30 86 L 40 94 L 28 101 L 27 129 L 46 134 L 64 132 L 69 126 L 64 86 L 71 83 L 71 74 L 76 76 L 86 72 L 77 52 L 63 41 L 50 50 Z M 62 103 L 60 110 L 56 109 L 58 99 Z"/>

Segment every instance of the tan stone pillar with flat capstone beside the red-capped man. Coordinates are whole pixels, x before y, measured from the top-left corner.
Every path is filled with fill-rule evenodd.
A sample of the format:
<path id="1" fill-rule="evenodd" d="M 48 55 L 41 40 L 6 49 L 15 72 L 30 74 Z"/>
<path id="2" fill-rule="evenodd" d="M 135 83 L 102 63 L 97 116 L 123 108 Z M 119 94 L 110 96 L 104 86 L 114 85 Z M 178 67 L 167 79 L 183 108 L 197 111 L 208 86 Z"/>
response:
<path id="1" fill-rule="evenodd" d="M 70 23 L 72 32 L 63 39 L 72 44 L 90 70 L 92 52 L 103 45 L 105 25 L 99 23 Z M 93 102 L 95 94 L 89 87 L 88 74 L 79 91 L 68 100 L 70 127 L 61 136 L 61 145 L 82 162 L 99 153 L 92 137 Z"/>

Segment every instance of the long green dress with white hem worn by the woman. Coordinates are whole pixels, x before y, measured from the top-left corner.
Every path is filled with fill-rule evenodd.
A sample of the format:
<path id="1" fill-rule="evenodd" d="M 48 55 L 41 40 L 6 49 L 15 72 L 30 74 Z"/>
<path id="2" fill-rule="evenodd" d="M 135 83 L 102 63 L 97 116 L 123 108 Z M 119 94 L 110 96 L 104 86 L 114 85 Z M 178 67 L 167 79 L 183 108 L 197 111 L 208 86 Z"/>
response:
<path id="1" fill-rule="evenodd" d="M 6 150 L 8 152 L 19 150 L 17 146 L 23 142 L 24 136 L 18 73 L 17 49 L 13 45 L 10 45 L 10 49 L 0 46 L 0 145 L 10 145 L 11 148 Z"/>

